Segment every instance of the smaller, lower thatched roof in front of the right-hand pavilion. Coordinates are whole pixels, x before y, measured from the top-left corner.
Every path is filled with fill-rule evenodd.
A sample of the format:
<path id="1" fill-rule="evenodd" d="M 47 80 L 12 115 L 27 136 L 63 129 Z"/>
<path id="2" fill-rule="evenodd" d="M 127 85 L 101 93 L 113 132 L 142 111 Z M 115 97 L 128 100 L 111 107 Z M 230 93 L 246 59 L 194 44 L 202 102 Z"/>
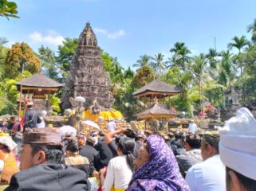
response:
<path id="1" fill-rule="evenodd" d="M 176 115 L 175 112 L 172 112 L 171 110 L 168 110 L 167 108 L 163 107 L 159 103 L 155 103 L 152 105 L 152 107 L 148 108 L 145 111 L 142 111 L 138 114 L 137 116 L 140 115 Z"/>

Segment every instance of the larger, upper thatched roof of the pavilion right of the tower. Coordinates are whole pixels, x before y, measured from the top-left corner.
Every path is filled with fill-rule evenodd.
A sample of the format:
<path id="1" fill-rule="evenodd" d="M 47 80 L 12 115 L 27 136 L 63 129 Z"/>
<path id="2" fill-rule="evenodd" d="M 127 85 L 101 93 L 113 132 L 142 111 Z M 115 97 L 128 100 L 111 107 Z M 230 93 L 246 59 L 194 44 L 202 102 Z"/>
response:
<path id="1" fill-rule="evenodd" d="M 132 95 L 139 96 L 140 94 L 144 94 L 146 92 L 177 94 L 183 92 L 183 90 L 157 79 L 153 80 L 151 83 L 145 85 L 144 87 L 138 89 L 136 92 L 133 92 Z"/>

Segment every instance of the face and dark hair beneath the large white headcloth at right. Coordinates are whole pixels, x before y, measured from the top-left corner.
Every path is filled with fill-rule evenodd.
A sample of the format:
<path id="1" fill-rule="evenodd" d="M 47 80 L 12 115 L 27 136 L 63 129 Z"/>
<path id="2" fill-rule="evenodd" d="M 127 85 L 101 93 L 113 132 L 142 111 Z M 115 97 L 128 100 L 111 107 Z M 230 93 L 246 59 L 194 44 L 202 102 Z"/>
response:
<path id="1" fill-rule="evenodd" d="M 254 191 L 256 180 L 243 176 L 226 166 L 226 191 Z"/>

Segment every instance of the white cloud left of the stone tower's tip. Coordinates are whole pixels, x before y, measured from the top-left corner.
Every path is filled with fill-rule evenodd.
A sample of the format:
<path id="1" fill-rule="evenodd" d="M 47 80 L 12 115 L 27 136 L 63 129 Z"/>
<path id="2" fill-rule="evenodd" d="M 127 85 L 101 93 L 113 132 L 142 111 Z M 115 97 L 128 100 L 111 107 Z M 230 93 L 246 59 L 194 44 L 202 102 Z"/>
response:
<path id="1" fill-rule="evenodd" d="M 45 35 L 34 31 L 30 33 L 29 38 L 33 43 L 47 43 L 49 45 L 62 45 L 63 41 L 65 41 L 64 37 L 55 30 L 48 30 Z"/>

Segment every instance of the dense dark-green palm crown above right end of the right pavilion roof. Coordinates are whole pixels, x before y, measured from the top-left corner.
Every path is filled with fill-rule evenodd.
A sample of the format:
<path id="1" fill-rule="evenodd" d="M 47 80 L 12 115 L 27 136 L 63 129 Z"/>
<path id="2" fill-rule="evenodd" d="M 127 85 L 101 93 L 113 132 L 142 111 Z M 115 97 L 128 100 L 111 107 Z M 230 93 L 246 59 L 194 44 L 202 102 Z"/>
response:
<path id="1" fill-rule="evenodd" d="M 172 49 L 170 49 L 171 53 L 174 53 L 173 58 L 170 60 L 175 61 L 172 65 L 178 65 L 183 70 L 186 68 L 186 62 L 189 61 L 190 57 L 188 54 L 191 53 L 185 43 L 183 42 L 176 42 Z"/>

